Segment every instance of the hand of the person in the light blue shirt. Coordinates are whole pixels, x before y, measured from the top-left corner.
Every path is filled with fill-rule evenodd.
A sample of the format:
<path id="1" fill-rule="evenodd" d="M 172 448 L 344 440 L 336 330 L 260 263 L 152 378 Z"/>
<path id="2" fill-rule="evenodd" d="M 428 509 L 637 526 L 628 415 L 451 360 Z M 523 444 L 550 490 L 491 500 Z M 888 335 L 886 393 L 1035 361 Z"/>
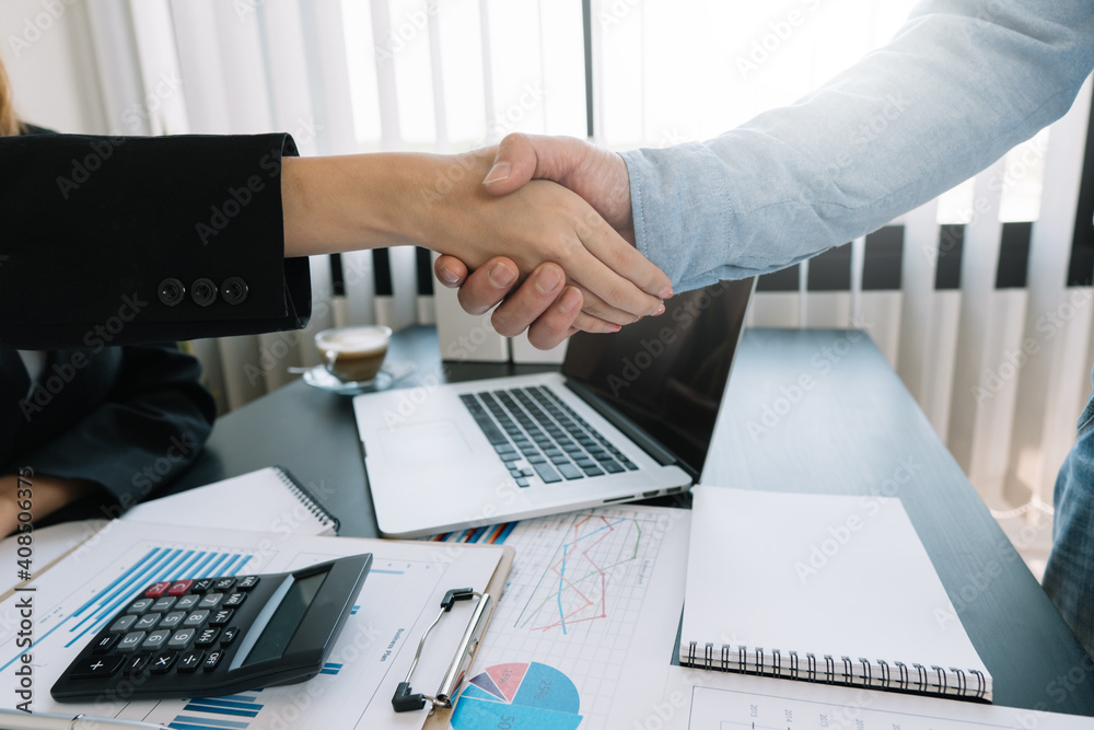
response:
<path id="1" fill-rule="evenodd" d="M 635 244 L 635 221 L 630 205 L 630 177 L 618 154 L 570 137 L 543 137 L 514 134 L 502 140 L 493 165 L 482 181 L 492 195 L 508 195 L 534 178 L 547 178 L 570 188 L 619 235 Z M 503 277 L 512 262 L 499 257 L 468 275 L 467 266 L 452 256 L 441 256 L 434 267 L 438 279 L 446 287 L 459 287 L 459 303 L 472 314 L 481 314 L 498 302 L 493 325 L 508 336 L 528 331 L 528 341 L 539 349 L 555 347 L 578 329 L 615 332 L 618 326 L 582 312 L 583 300 L 574 301 L 580 292 L 556 286 L 545 290 L 537 274 L 508 299 L 516 277 Z M 502 276 L 498 276 L 501 274 Z M 672 291 L 666 292 L 672 296 Z"/>

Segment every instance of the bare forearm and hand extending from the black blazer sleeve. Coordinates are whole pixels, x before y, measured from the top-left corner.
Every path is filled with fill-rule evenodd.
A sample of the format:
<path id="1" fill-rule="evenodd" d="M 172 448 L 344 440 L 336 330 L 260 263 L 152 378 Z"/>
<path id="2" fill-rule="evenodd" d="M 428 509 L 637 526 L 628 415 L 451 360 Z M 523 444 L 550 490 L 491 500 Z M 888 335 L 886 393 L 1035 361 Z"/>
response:
<path id="1" fill-rule="evenodd" d="M 584 200 L 546 181 L 504 196 L 482 187 L 494 150 L 286 158 L 287 257 L 417 244 L 477 268 L 504 255 L 527 276 L 555 262 L 585 311 L 629 324 L 661 308 L 667 277 Z"/>

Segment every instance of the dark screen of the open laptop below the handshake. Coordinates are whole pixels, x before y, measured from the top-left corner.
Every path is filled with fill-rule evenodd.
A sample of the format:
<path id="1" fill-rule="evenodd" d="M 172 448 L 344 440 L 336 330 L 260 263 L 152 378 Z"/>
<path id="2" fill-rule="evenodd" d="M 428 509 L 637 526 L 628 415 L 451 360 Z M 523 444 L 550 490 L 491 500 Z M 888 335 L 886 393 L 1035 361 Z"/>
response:
<path id="1" fill-rule="evenodd" d="M 610 335 L 579 332 L 562 373 L 652 436 L 698 476 L 744 327 L 753 279 L 677 294 Z"/>

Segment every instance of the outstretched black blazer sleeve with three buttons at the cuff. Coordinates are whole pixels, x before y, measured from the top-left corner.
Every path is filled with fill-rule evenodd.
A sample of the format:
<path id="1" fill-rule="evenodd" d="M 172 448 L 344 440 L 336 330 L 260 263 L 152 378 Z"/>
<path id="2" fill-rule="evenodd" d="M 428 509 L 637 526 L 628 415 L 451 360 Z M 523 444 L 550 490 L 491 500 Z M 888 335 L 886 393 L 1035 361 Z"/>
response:
<path id="1" fill-rule="evenodd" d="M 0 345 L 97 347 L 299 328 L 289 135 L 0 138 Z"/>

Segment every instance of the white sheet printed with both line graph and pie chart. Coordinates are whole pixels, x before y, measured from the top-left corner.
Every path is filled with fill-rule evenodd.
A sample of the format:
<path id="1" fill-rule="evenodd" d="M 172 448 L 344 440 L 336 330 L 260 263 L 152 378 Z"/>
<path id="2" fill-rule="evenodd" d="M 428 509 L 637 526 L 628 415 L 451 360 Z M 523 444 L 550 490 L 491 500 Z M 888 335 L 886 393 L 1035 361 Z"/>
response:
<path id="1" fill-rule="evenodd" d="M 479 682 L 459 699 L 467 707 L 461 710 L 457 703 L 453 717 L 463 722 L 458 727 L 493 727 L 499 721 L 516 727 L 517 720 L 521 727 L 554 730 L 578 723 L 587 730 L 630 727 L 620 719 L 641 714 L 631 707 L 628 687 L 639 687 L 644 695 L 648 684 L 657 684 L 654 691 L 660 691 L 656 672 L 642 668 L 661 667 L 675 638 L 683 596 L 677 566 L 687 560 L 687 517 L 682 510 L 618 506 L 522 520 L 505 540 L 519 559 L 488 640 L 467 673 L 472 685 L 475 679 Z M 650 650 L 650 641 L 636 640 L 642 636 L 652 641 L 657 631 L 656 650 Z M 522 676 L 521 686 L 532 686 L 521 668 L 537 662 L 568 682 L 536 682 L 534 694 L 572 684 L 572 705 L 536 707 L 532 712 L 513 706 L 520 703 L 497 699 L 511 696 Z M 487 676 L 497 688 L 489 686 Z M 570 715 L 548 716 L 546 709 Z M 493 715 L 487 717 L 487 710 Z"/>

